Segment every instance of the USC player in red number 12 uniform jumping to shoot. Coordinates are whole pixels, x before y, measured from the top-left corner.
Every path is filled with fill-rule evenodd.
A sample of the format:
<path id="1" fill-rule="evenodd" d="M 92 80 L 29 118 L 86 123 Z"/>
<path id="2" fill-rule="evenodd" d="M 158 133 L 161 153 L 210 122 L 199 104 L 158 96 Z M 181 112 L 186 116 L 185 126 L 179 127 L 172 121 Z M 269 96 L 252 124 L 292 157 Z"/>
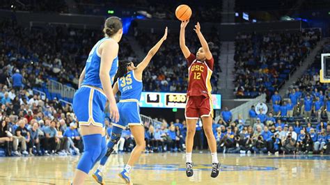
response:
<path id="1" fill-rule="evenodd" d="M 204 133 L 207 143 L 212 154 L 212 172 L 211 177 L 217 177 L 221 164 L 217 157 L 217 141 L 212 131 L 213 105 L 210 83 L 214 59 L 207 45 L 207 42 L 201 33 L 201 25 L 199 22 L 195 25 L 194 31 L 201 42 L 202 47 L 198 49 L 196 56 L 191 54 L 185 44 L 184 31 L 189 20 L 181 23 L 180 29 L 180 48 L 184 57 L 188 61 L 189 69 L 189 85 L 187 90 L 187 106 L 185 109 L 185 117 L 187 122 L 186 137 L 186 175 L 191 177 L 194 174 L 194 163 L 191 160 L 191 152 L 194 145 L 194 135 L 196 131 L 196 123 L 199 118 L 202 119 Z"/>

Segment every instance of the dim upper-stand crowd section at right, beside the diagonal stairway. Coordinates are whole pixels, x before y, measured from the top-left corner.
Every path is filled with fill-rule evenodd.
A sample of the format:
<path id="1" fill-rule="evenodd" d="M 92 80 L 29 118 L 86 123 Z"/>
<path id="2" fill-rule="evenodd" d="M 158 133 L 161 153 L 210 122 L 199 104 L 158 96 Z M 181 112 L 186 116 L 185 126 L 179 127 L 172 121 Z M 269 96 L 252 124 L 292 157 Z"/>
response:
<path id="1" fill-rule="evenodd" d="M 235 40 L 235 95 L 269 99 L 317 41 L 318 29 L 303 32 L 238 33 Z"/>

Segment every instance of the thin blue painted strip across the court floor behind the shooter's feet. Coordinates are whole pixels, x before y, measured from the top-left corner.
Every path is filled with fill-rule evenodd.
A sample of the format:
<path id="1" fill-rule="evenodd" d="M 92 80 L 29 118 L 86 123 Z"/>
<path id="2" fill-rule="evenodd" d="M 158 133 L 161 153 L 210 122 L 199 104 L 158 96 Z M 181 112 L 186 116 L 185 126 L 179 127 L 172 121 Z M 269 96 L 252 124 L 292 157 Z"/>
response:
<path id="1" fill-rule="evenodd" d="M 210 164 L 194 164 L 194 170 L 210 171 Z M 138 170 L 168 170 L 168 171 L 185 171 L 186 166 L 181 164 L 138 164 L 134 166 Z M 277 170 L 278 168 L 270 166 L 221 166 L 221 171 L 269 171 Z"/>

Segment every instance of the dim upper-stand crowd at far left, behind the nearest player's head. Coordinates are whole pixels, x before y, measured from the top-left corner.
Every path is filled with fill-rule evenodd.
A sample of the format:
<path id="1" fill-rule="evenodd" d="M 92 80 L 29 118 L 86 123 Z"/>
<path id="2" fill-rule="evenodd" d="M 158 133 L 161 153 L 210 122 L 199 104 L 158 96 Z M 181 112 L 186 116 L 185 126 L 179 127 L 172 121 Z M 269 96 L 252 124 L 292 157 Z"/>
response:
<path id="1" fill-rule="evenodd" d="M 10 78 L 19 70 L 28 88 L 41 87 L 49 79 L 77 88 L 89 51 L 103 36 L 102 31 L 61 26 L 26 28 L 14 21 L 0 22 L 0 28 L 1 75 Z M 119 58 L 136 57 L 127 38 L 120 46 Z"/>

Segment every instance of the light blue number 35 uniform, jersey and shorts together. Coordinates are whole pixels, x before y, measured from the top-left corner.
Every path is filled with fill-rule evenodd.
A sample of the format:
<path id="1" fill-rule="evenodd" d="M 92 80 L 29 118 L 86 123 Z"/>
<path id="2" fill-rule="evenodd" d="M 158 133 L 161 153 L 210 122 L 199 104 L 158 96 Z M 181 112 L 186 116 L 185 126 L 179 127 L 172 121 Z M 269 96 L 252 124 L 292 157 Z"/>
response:
<path id="1" fill-rule="evenodd" d="M 118 90 L 121 93 L 118 102 L 119 122 L 113 126 L 125 129 L 127 125 L 143 125 L 140 118 L 139 100 L 143 83 L 134 76 L 134 71 L 127 72 L 125 77 L 118 79 Z"/>

